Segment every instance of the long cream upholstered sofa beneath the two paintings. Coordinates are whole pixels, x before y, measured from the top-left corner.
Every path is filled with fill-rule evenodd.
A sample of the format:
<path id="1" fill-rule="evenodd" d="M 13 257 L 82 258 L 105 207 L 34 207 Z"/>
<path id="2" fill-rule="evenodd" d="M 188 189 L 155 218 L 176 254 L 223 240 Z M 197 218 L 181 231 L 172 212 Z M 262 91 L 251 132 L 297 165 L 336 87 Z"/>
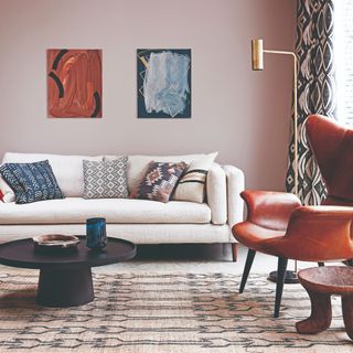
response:
<path id="1" fill-rule="evenodd" d="M 129 156 L 128 188 L 139 183 L 149 161 L 191 162 L 202 154 Z M 113 156 L 109 156 L 113 158 Z M 137 244 L 234 243 L 232 225 L 243 218 L 243 172 L 232 165 L 214 163 L 206 181 L 206 203 L 130 199 L 83 199 L 83 159 L 103 160 L 103 156 L 58 156 L 6 153 L 2 163 L 47 159 L 65 194 L 51 200 L 17 205 L 0 202 L 0 242 L 39 234 L 85 234 L 85 221 L 103 216 L 109 236 Z"/>

